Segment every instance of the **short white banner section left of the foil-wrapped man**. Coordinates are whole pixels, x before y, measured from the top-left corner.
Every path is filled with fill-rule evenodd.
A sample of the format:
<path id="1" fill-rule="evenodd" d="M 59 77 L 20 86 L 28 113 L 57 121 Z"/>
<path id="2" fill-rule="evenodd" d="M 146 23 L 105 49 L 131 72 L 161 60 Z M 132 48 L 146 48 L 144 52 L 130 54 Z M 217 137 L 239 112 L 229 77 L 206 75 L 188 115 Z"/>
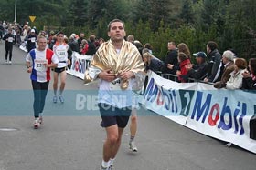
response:
<path id="1" fill-rule="evenodd" d="M 72 65 L 67 73 L 84 79 L 84 72 L 88 69 L 92 55 L 80 55 L 77 52 L 72 54 Z"/>

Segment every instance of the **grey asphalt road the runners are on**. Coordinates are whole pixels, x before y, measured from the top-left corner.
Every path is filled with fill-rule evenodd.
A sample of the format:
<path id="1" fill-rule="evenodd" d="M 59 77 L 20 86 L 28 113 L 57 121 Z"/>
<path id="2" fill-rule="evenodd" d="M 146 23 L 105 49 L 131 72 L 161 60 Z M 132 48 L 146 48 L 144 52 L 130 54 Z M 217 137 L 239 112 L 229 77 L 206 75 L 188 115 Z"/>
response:
<path id="1" fill-rule="evenodd" d="M 83 85 L 82 80 L 68 75 L 65 103 L 52 104 L 50 83 L 44 125 L 35 130 L 27 54 L 15 47 L 13 64 L 6 65 L 4 45 L 0 43 L 0 170 L 99 169 L 105 138 L 101 117 L 92 108 L 78 111 L 75 104 L 78 95 L 95 95 L 97 84 Z M 128 149 L 126 128 L 116 170 L 255 169 L 256 155 L 238 146 L 227 147 L 143 108 L 138 112 L 142 115 L 135 138 L 139 151 Z M 3 131 L 12 128 L 14 131 Z"/>

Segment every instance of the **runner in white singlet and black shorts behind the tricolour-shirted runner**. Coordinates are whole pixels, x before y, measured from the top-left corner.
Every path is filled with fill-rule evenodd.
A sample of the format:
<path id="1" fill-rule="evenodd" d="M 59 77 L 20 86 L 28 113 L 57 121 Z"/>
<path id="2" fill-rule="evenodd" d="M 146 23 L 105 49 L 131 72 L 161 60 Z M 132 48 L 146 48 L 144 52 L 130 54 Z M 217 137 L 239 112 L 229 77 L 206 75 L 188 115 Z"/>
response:
<path id="1" fill-rule="evenodd" d="M 69 45 L 64 42 L 64 34 L 59 32 L 57 34 L 57 42 L 53 45 L 53 52 L 59 59 L 59 63 L 57 68 L 54 71 L 54 82 L 53 82 L 53 103 L 57 103 L 57 90 L 58 90 L 58 78 L 60 75 L 60 86 L 59 86 L 59 101 L 64 103 L 64 98 L 62 93 L 65 88 L 66 84 L 66 77 L 67 77 L 67 66 L 70 65 L 70 59 L 68 55 Z"/>

